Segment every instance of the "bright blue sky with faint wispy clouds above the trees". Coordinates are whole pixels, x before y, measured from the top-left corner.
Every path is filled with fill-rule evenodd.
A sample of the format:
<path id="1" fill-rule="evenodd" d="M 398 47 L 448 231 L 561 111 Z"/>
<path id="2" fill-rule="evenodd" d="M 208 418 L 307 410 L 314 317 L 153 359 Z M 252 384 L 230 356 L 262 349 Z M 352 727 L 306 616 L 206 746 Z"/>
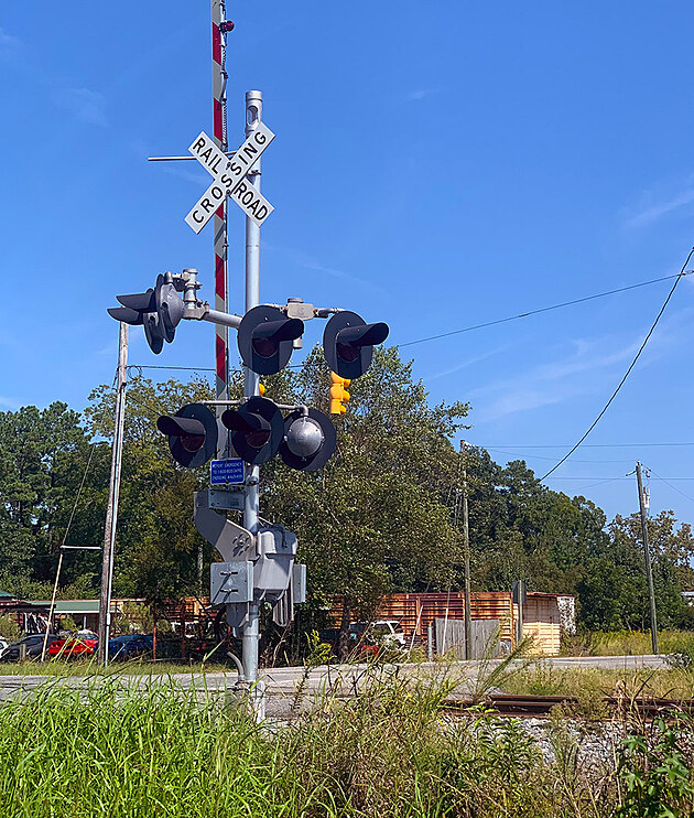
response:
<path id="1" fill-rule="evenodd" d="M 82 408 L 110 383 L 116 293 L 197 267 L 213 298 L 212 226 L 183 222 L 209 176 L 145 161 L 212 129 L 208 2 L 95 8 L 0 10 L 0 409 Z M 694 244 L 691 3 L 265 0 L 229 2 L 228 17 L 230 141 L 250 88 L 276 133 L 263 300 L 354 309 L 405 343 L 675 273 Z M 240 311 L 240 211 L 229 256 Z M 433 400 L 471 401 L 473 443 L 542 474 L 603 407 L 670 286 L 403 354 Z M 694 445 L 646 445 L 694 442 L 693 316 L 694 276 L 550 486 L 629 514 L 640 459 L 652 510 L 694 519 Z M 212 366 L 213 332 L 186 323 L 158 357 L 135 332 L 130 358 Z"/>

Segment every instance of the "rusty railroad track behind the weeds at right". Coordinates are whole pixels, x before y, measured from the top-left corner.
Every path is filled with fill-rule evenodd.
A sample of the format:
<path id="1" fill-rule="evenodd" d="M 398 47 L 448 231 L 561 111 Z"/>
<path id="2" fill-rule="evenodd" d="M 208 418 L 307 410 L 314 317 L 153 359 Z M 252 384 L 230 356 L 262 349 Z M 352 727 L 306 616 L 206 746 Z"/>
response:
<path id="1" fill-rule="evenodd" d="M 603 702 L 614 712 L 638 713 L 644 719 L 653 719 L 668 712 L 682 712 L 694 714 L 694 699 L 662 699 L 655 697 L 631 699 L 629 697 L 606 696 Z M 536 719 L 549 717 L 552 709 L 565 706 L 571 709 L 578 706 L 578 699 L 572 696 L 512 696 L 495 695 L 487 696 L 479 702 L 489 712 L 499 715 L 516 717 L 521 719 Z M 464 713 L 473 707 L 466 701 L 447 701 L 447 712 Z"/>

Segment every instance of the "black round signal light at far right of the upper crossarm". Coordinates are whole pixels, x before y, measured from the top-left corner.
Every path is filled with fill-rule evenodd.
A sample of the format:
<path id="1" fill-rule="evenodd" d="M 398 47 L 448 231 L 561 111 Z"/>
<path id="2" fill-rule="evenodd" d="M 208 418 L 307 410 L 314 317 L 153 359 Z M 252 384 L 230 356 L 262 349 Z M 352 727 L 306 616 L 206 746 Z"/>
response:
<path id="1" fill-rule="evenodd" d="M 388 332 L 388 324 L 367 324 L 356 312 L 335 313 L 323 333 L 328 366 L 340 378 L 358 378 L 371 366 L 373 347 L 386 341 Z"/>

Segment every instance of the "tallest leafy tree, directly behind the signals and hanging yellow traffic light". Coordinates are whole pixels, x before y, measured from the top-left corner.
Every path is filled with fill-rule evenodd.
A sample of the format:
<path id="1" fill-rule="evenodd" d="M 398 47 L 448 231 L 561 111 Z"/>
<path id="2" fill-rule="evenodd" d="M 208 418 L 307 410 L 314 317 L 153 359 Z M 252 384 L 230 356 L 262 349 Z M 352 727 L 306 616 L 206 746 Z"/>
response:
<path id="1" fill-rule="evenodd" d="M 274 400 L 327 409 L 328 372 L 314 349 L 300 373 L 268 383 Z M 399 590 L 443 588 L 459 560 L 451 524 L 451 443 L 467 405 L 431 407 L 412 365 L 395 348 L 377 351 L 350 387 L 348 412 L 334 418 L 338 444 L 317 473 L 274 461 L 263 480 L 264 514 L 293 528 L 314 599 L 343 598 L 343 652 L 353 615 L 369 615 Z"/>

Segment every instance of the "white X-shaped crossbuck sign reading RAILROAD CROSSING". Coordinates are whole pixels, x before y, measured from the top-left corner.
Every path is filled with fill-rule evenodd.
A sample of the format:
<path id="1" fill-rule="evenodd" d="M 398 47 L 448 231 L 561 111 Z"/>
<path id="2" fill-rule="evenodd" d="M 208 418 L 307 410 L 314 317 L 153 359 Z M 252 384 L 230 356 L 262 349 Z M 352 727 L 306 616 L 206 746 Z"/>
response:
<path id="1" fill-rule="evenodd" d="M 229 158 L 217 148 L 205 131 L 200 131 L 188 151 L 212 174 L 214 181 L 185 217 L 195 233 L 205 227 L 226 196 L 230 196 L 259 227 L 262 225 L 274 207 L 247 180 L 247 174 L 273 139 L 274 133 L 260 122 Z"/>

